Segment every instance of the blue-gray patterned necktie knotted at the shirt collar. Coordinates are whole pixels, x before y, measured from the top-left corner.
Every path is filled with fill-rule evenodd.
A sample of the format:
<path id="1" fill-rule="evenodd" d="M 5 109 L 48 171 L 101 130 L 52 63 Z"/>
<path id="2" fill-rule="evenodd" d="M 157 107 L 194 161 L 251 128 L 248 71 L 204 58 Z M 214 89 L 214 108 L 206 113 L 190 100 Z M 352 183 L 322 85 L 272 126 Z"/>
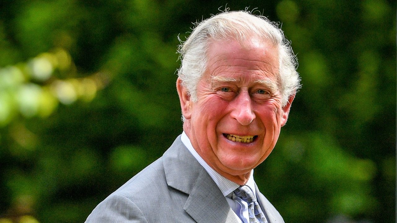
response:
<path id="1" fill-rule="evenodd" d="M 248 203 L 249 223 L 267 223 L 266 217 L 259 207 L 256 197 L 248 186 L 240 186 L 235 189 L 234 194 Z"/>

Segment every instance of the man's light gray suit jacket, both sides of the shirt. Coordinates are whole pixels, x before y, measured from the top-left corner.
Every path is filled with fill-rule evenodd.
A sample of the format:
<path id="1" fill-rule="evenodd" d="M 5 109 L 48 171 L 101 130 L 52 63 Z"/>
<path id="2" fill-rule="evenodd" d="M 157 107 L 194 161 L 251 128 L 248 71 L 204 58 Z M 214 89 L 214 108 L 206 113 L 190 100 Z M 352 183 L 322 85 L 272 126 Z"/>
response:
<path id="1" fill-rule="evenodd" d="M 255 185 L 269 223 L 283 218 Z M 164 155 L 110 194 L 86 223 L 237 223 L 207 171 L 178 136 Z"/>

